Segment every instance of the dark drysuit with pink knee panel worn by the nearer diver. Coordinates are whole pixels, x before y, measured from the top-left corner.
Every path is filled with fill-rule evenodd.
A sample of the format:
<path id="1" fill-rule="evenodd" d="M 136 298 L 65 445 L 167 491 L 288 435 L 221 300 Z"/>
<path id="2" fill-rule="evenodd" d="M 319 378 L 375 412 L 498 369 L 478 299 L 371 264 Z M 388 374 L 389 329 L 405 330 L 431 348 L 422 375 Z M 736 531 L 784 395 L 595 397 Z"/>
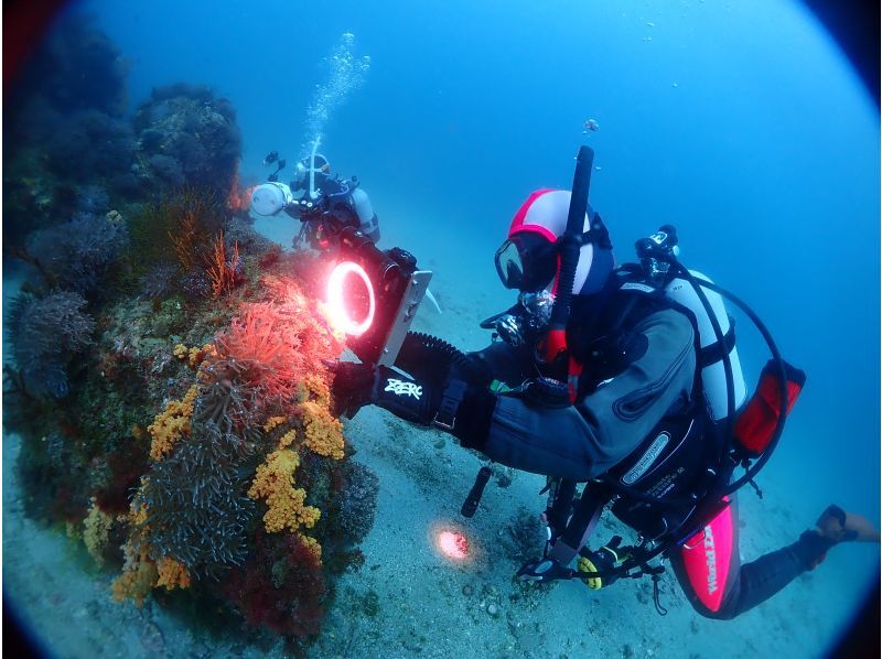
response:
<path id="1" fill-rule="evenodd" d="M 433 370 L 435 356 L 421 355 L 419 349 L 411 348 L 408 354 L 402 350 L 401 363 L 397 365 L 426 386 L 426 398 L 433 398 L 429 403 L 433 409 L 439 407 L 439 391 L 444 382 L 452 378 L 469 380 L 450 431 L 462 445 L 526 472 L 578 482 L 607 472 L 619 477 L 622 465 L 633 468 L 659 429 L 682 429 L 670 442 L 671 445 L 679 442 L 677 449 L 663 453 L 663 460 L 657 461 L 665 463 L 662 468 L 648 469 L 653 472 L 654 484 L 666 484 L 667 490 L 682 494 L 695 482 L 696 472 L 707 464 L 709 443 L 693 424 L 693 418 L 699 415 L 693 404 L 696 330 L 686 313 L 659 306 L 658 301 L 637 301 L 623 320 L 621 312 L 615 311 L 625 304 L 623 295 L 621 291 L 613 293 L 613 303 L 604 304 L 601 313 L 591 303 L 582 304 L 581 299 L 573 301 L 568 345 L 583 365 L 574 404 L 549 408 L 531 402 L 529 397 L 496 395 L 488 389 L 492 380 L 518 388 L 538 377 L 535 343 L 519 347 L 494 343 L 454 364 L 448 378 L 439 378 Z M 592 317 L 596 320 L 592 322 Z M 591 327 L 589 333 L 585 327 Z M 380 382 L 378 389 L 388 391 L 389 387 L 384 388 Z M 426 414 L 413 413 L 411 400 L 378 393 L 373 402 L 404 419 L 431 422 Z M 665 426 L 666 419 L 679 419 L 679 425 Z M 638 478 L 636 485 L 639 484 Z M 656 488 L 654 493 L 657 491 Z M 639 528 L 648 523 L 646 507 L 633 506 L 638 509 L 636 515 L 630 515 L 627 508 L 619 504 L 613 511 L 619 515 L 622 509 L 625 514 L 619 515 L 620 518 L 646 533 L 645 528 Z M 763 602 L 810 569 L 832 544 L 807 531 L 793 545 L 741 565 L 735 501 L 722 515 L 728 518 L 720 520 L 732 529 L 731 542 L 716 548 L 703 543 L 709 552 L 706 562 L 713 568 L 709 584 L 707 575 L 690 577 L 691 568 L 685 563 L 686 549 L 674 548 L 669 555 L 684 591 L 696 609 L 708 617 L 731 618 Z M 707 536 L 709 540 L 709 530 Z M 722 583 L 718 583 L 718 575 Z M 703 588 L 709 590 L 710 599 L 697 592 Z"/>

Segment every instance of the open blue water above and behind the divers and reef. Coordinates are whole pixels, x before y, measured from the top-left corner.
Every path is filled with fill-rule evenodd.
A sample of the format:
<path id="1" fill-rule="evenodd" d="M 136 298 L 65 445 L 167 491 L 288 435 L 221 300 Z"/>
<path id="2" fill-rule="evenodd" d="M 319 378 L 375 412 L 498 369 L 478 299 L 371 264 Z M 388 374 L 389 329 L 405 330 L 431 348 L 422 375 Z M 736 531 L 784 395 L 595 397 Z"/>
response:
<path id="1" fill-rule="evenodd" d="M 84 6 L 131 61 L 132 108 L 178 80 L 233 101 L 245 181 L 266 176 L 268 151 L 302 151 L 327 58 L 354 34 L 349 53 L 369 67 L 329 108 L 322 151 L 359 176 L 384 244 L 462 279 L 463 294 L 505 300 L 492 256 L 512 214 L 535 188 L 568 187 L 590 144 L 591 201 L 619 260 L 675 224 L 684 261 L 746 300 L 808 372 L 762 480 L 799 503 L 806 527 L 833 500 L 879 521 L 879 111 L 799 3 Z M 589 118 L 600 130 L 583 134 Z M 752 385 L 765 354 L 738 326 Z M 828 563 L 819 579 L 857 602 L 878 550 L 843 547 Z"/>

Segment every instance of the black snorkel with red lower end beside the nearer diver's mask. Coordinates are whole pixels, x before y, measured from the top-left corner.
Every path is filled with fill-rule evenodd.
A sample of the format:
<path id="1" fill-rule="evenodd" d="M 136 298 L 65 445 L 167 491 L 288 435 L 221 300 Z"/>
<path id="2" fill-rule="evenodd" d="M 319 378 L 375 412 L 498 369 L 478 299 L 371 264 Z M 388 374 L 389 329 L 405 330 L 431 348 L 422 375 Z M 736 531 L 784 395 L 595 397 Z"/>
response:
<path id="1" fill-rule="evenodd" d="M 590 147 L 580 147 L 579 154 L 576 156 L 576 173 L 572 180 L 570 209 L 567 215 L 567 230 L 557 240 L 560 274 L 545 344 L 545 358 L 548 363 L 553 361 L 567 350 L 567 321 L 570 317 L 576 267 L 579 264 L 579 252 L 584 244 L 584 218 L 588 210 L 588 191 L 591 187 L 593 164 L 594 151 Z"/>

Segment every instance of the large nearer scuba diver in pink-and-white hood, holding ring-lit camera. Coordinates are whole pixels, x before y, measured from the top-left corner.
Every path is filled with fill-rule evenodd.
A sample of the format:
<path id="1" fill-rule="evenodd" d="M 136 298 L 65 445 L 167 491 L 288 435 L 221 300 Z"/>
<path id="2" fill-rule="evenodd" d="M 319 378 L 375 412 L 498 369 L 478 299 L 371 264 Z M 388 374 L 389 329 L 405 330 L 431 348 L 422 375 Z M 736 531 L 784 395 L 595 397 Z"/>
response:
<path id="1" fill-rule="evenodd" d="M 696 611 L 730 619 L 835 544 L 880 536 L 863 517 L 830 506 L 793 544 L 741 563 L 735 490 L 756 487 L 805 374 L 729 296 L 773 354 L 747 399 L 724 291 L 679 264 L 670 226 L 637 242 L 639 263 L 616 268 L 606 227 L 588 205 L 592 161 L 583 148 L 571 192 L 537 191 L 515 214 L 495 259 L 518 302 L 482 323 L 499 341 L 463 354 L 409 333 L 396 369 L 331 365 L 335 406 L 352 418 L 377 404 L 451 433 L 491 462 L 545 475 L 547 542 L 518 571 L 521 580 L 580 579 L 599 588 L 646 574 L 664 615 L 658 559 L 667 559 Z M 735 478 L 739 467 L 745 473 Z M 491 473 L 478 472 L 466 517 Z M 616 536 L 589 549 L 606 507 L 636 531 L 634 545 Z"/>

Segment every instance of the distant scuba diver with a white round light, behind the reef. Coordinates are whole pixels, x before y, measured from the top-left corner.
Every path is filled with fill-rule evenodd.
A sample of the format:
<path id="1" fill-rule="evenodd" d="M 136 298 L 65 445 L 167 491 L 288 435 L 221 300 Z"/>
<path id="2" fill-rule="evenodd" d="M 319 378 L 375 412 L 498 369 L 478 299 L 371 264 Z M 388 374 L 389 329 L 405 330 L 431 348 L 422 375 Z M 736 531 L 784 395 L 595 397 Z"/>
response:
<path id="1" fill-rule="evenodd" d="M 290 184 L 279 182 L 279 172 L 286 160 L 278 151 L 270 152 L 265 165 L 276 165 L 268 182 L 251 193 L 251 209 L 257 215 L 277 216 L 282 210 L 303 224 L 294 238 L 294 247 L 309 245 L 313 249 L 327 249 L 333 237 L 345 227 L 355 227 L 374 242 L 379 240 L 377 215 L 367 193 L 359 187 L 355 176 L 343 180 L 331 175 L 327 159 L 318 153 L 318 140 L 312 153 L 297 164 L 295 177 Z"/>

